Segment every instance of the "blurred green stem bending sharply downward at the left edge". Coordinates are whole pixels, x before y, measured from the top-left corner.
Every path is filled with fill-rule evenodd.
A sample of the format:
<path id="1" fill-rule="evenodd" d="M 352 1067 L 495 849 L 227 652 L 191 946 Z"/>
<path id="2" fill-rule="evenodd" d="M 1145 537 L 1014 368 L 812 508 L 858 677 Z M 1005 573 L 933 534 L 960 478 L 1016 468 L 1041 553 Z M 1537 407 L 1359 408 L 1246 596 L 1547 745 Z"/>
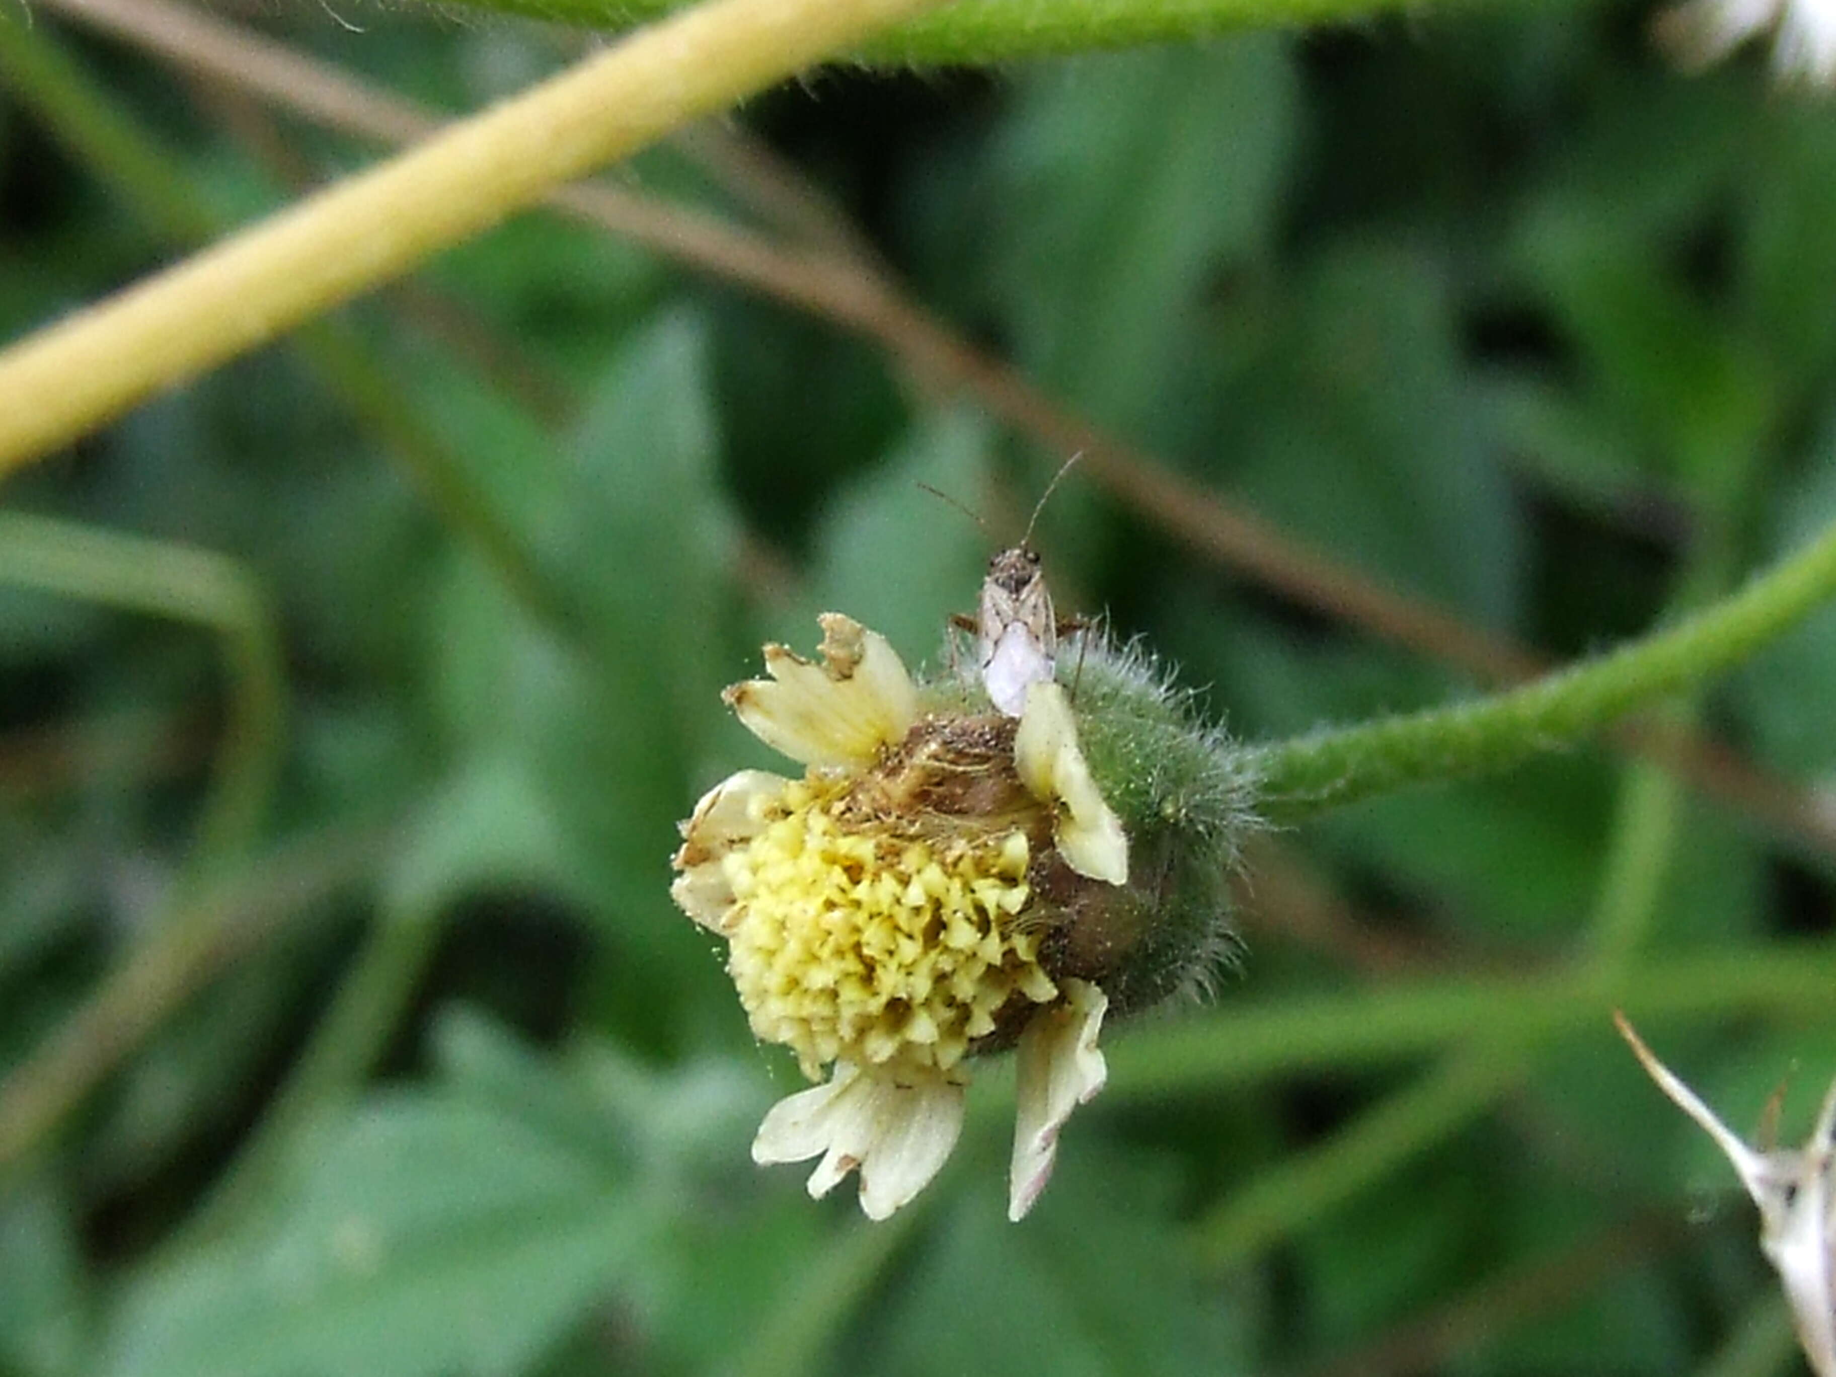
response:
<path id="1" fill-rule="evenodd" d="M 171 617 L 220 637 L 230 722 L 191 868 L 209 874 L 242 854 L 261 830 L 286 718 L 274 613 L 248 571 L 187 545 L 0 512 L 0 582 Z"/>

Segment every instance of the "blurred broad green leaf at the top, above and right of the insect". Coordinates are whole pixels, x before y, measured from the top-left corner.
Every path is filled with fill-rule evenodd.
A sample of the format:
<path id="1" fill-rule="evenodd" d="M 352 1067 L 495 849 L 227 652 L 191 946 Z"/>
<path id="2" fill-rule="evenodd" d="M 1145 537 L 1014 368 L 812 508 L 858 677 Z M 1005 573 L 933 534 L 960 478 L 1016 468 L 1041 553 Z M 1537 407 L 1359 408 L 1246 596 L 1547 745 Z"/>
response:
<path id="1" fill-rule="evenodd" d="M 1045 386 L 1131 435 L 1177 433 L 1208 288 L 1263 250 L 1294 140 L 1285 44 L 1258 35 L 1028 75 L 995 156 L 991 281 Z"/>

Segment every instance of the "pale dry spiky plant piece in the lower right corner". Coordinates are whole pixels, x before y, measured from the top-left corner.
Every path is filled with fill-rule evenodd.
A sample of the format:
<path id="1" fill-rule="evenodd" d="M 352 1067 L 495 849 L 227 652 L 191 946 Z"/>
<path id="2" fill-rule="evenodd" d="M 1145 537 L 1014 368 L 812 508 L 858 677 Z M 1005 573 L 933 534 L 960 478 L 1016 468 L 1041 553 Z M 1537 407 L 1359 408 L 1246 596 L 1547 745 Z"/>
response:
<path id="1" fill-rule="evenodd" d="M 1797 1342 L 1818 1377 L 1836 1377 L 1836 1085 L 1823 1096 L 1810 1142 L 1763 1153 L 1722 1124 L 1715 1111 L 1652 1056 L 1623 1013 L 1619 1034 L 1676 1107 L 1702 1125 L 1759 1206 L 1759 1247 L 1797 1324 Z"/>

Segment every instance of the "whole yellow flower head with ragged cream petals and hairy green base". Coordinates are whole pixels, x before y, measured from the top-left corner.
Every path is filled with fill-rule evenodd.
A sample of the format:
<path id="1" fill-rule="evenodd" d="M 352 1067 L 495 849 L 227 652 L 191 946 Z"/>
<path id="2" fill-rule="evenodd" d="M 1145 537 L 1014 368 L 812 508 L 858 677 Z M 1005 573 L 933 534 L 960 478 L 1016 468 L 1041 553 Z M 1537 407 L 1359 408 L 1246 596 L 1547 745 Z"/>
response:
<path id="1" fill-rule="evenodd" d="M 727 690 L 804 775 L 716 784 L 674 859 L 672 894 L 727 940 L 753 1032 L 828 1074 L 766 1116 L 753 1157 L 821 1157 L 813 1195 L 857 1170 L 885 1217 L 949 1155 L 969 1063 L 1013 1048 L 1019 1219 L 1103 1085 L 1105 1015 L 1193 988 L 1226 949 L 1247 780 L 1102 643 L 1076 698 L 1036 681 L 1015 718 L 979 676 L 920 685 L 879 635 L 821 621 L 817 661 L 769 646 L 771 677 Z"/>

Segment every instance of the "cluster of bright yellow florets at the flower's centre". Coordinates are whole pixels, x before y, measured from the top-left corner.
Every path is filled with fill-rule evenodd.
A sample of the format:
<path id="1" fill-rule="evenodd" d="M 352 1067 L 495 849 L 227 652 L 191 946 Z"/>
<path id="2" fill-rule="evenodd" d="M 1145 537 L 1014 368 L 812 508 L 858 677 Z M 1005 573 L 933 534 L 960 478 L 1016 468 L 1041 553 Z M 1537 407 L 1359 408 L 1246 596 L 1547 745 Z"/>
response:
<path id="1" fill-rule="evenodd" d="M 789 784 L 725 861 L 727 969 L 753 1032 L 817 1078 L 832 1061 L 949 1072 L 1015 995 L 1058 997 L 1036 933 L 1019 830 L 918 835 L 841 808 L 845 782 Z"/>

